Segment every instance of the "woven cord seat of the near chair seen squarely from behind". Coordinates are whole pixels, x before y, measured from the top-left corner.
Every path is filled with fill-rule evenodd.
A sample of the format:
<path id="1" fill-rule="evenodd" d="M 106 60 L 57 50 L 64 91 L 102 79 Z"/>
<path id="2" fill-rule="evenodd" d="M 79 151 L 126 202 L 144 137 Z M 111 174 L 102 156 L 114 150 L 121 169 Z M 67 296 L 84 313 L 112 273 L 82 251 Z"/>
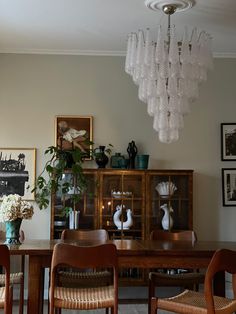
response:
<path id="1" fill-rule="evenodd" d="M 92 310 L 112 307 L 114 297 L 113 286 L 81 289 L 56 287 L 54 290 L 55 307 L 66 309 Z"/>

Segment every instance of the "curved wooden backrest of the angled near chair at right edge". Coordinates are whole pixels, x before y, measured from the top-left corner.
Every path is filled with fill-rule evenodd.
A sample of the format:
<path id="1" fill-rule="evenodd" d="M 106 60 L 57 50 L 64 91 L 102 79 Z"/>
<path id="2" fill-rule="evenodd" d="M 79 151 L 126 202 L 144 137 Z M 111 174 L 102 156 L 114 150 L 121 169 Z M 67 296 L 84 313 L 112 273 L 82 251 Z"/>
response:
<path id="1" fill-rule="evenodd" d="M 215 313 L 212 281 L 214 275 L 220 271 L 232 274 L 233 292 L 234 298 L 236 298 L 236 251 L 228 249 L 217 250 L 208 265 L 204 282 L 207 313 Z"/>

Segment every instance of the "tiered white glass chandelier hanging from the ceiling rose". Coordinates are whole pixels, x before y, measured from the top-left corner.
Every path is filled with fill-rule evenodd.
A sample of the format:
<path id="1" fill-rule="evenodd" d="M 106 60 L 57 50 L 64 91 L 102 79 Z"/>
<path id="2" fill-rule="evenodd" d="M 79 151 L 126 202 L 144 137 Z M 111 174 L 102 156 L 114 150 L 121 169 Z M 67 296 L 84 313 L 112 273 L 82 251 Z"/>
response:
<path id="1" fill-rule="evenodd" d="M 138 85 L 139 99 L 147 103 L 159 140 L 172 143 L 179 139 L 189 104 L 198 97 L 199 83 L 213 67 L 211 37 L 196 28 L 188 34 L 185 27 L 182 40 L 177 40 L 170 16 L 192 7 L 190 0 L 146 0 L 145 4 L 168 15 L 168 28 L 164 32 L 158 26 L 156 40 L 149 29 L 145 35 L 142 30 L 129 34 L 125 71 Z"/>

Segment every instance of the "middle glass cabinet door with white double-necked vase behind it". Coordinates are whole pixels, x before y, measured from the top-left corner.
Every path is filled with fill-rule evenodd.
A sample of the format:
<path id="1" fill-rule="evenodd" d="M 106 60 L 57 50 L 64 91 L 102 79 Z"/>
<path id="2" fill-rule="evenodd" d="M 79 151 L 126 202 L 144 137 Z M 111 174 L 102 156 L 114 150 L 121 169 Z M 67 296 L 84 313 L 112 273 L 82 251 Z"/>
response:
<path id="1" fill-rule="evenodd" d="M 101 174 L 100 225 L 111 238 L 144 236 L 144 174 L 110 171 Z"/>

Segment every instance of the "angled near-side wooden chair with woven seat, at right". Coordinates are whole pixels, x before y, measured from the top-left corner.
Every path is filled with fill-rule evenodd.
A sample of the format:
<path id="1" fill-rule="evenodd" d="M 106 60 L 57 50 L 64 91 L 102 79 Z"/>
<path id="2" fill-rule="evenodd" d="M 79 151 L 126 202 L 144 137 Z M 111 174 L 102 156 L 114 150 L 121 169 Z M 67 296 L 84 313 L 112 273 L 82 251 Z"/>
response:
<path id="1" fill-rule="evenodd" d="M 213 279 L 219 271 L 232 274 L 234 299 L 214 296 Z M 236 311 L 236 251 L 221 249 L 215 252 L 207 268 L 204 293 L 185 290 L 171 298 L 152 298 L 151 314 L 158 309 L 174 313 L 231 314 Z"/>

